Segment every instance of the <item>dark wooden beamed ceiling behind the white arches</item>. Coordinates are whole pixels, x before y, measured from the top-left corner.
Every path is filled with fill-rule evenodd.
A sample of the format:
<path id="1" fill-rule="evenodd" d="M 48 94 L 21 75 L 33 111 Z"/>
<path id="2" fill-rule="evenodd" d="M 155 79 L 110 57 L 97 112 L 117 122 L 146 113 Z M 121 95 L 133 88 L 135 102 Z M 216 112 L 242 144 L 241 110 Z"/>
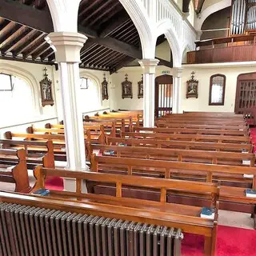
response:
<path id="1" fill-rule="evenodd" d="M 53 31 L 46 0 L 0 0 L 0 58 L 53 65 L 54 50 L 44 39 Z M 82 0 L 78 31 L 88 37 L 81 68 L 113 73 L 142 58 L 138 31 L 118 0 Z"/>

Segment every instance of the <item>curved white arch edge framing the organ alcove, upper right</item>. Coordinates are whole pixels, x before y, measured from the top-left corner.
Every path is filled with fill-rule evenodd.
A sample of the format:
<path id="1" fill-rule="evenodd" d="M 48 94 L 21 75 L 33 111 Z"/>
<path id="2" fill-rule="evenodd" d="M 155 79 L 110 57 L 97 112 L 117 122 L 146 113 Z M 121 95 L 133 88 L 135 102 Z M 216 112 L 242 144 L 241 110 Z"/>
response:
<path id="1" fill-rule="evenodd" d="M 225 9 L 226 7 L 231 6 L 231 0 L 222 0 L 220 2 L 214 3 L 214 5 L 211 5 L 206 8 L 206 10 L 203 10 L 200 14 L 200 18 L 197 18 L 194 22 L 194 28 L 195 30 L 201 30 L 202 23 L 206 20 L 207 17 L 210 16 L 210 14 L 214 14 L 218 10 Z"/>

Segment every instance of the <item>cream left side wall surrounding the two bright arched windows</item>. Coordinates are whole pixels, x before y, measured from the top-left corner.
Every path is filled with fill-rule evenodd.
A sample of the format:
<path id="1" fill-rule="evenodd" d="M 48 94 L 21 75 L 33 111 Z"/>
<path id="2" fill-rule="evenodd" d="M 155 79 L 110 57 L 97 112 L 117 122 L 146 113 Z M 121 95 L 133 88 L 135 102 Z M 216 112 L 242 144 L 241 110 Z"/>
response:
<path id="1" fill-rule="evenodd" d="M 48 78 L 52 81 L 52 93 L 54 98 L 54 106 L 42 106 L 41 91 L 39 82 L 43 79 L 43 69 L 46 67 Z M 12 131 L 26 131 L 26 127 L 34 124 L 35 126 L 44 126 L 47 122 L 57 123 L 63 119 L 62 114 L 62 95 L 60 85 L 60 74 L 59 70 L 55 70 L 55 66 L 33 64 L 26 62 L 14 62 L 7 60 L 0 60 L 0 73 L 12 74 L 26 80 L 30 84 L 31 90 L 34 92 L 34 107 L 35 114 L 31 117 L 12 117 L 8 120 L 1 118 L 0 110 L 0 138 L 6 130 Z M 106 73 L 106 79 L 109 82 L 108 92 L 109 98 L 111 96 L 111 77 L 109 72 Z M 80 70 L 81 76 L 88 76 L 92 78 L 98 87 L 98 100 L 94 101 L 94 104 L 88 104 L 86 101 L 81 102 L 81 108 L 83 115 L 94 114 L 96 112 L 110 110 L 110 105 L 113 101 L 104 100 L 102 101 L 101 83 L 103 81 L 103 71 L 98 70 Z M 81 94 L 86 94 L 86 90 L 81 90 Z M 21 95 L 22 97 L 22 95 Z M 26 99 L 25 99 L 26 100 Z M 14 106 L 17 108 L 18 106 Z"/>

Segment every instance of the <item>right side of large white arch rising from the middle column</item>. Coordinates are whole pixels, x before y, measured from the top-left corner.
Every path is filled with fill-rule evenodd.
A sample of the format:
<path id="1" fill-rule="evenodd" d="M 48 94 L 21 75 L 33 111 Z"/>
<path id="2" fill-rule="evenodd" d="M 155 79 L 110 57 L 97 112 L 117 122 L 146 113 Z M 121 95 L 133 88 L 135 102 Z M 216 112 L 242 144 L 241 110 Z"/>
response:
<path id="1" fill-rule="evenodd" d="M 119 0 L 119 2 L 122 3 L 122 6 L 126 9 L 138 30 L 142 43 L 142 58 L 154 58 L 156 42 L 156 38 L 154 38 L 155 24 L 146 13 L 142 2 L 136 0 Z"/>

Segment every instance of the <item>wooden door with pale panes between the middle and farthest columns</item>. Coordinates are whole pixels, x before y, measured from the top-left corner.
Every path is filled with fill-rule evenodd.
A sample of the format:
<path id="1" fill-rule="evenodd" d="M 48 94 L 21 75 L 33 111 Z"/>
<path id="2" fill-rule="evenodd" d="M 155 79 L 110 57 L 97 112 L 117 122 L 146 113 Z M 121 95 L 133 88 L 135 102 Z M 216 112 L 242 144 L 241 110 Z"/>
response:
<path id="1" fill-rule="evenodd" d="M 173 77 L 161 75 L 155 78 L 155 117 L 170 114 L 173 107 Z"/>

